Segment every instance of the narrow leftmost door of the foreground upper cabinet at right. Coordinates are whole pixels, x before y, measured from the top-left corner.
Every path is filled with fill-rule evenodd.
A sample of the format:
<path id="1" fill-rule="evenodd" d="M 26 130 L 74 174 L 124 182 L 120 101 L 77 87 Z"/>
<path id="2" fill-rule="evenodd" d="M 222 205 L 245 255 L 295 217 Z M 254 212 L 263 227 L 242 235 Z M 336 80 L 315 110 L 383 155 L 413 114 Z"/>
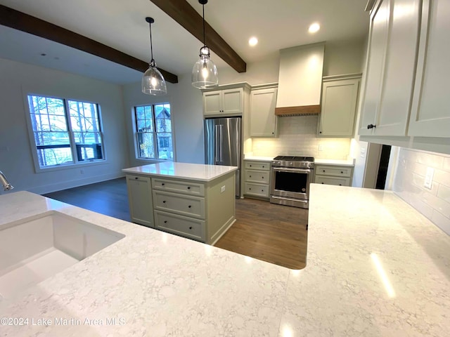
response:
<path id="1" fill-rule="evenodd" d="M 378 7 L 376 7 L 378 6 Z M 389 28 L 389 0 L 381 0 L 375 4 L 371 13 L 370 37 L 368 41 L 368 57 L 366 67 L 366 86 L 364 102 L 361 109 L 360 135 L 371 135 L 370 124 L 376 124 L 376 115 L 380 103 L 383 67 L 385 62 L 387 32 Z"/>

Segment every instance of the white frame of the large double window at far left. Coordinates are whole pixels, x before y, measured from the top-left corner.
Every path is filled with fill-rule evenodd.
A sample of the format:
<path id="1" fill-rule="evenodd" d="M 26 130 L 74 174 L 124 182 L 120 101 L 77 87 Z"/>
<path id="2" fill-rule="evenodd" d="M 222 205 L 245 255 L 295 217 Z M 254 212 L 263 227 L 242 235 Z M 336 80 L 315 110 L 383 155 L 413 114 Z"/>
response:
<path id="1" fill-rule="evenodd" d="M 53 98 L 57 100 L 63 100 L 63 106 L 64 106 L 64 117 L 65 117 L 65 124 L 68 127 L 68 138 L 70 143 L 70 153 L 72 154 L 72 162 L 65 163 L 65 164 L 56 164 L 56 165 L 49 165 L 49 166 L 41 166 L 39 164 L 39 156 L 38 156 L 38 145 L 36 144 L 36 141 L 34 140 L 34 133 L 35 132 L 46 132 L 46 131 L 34 131 L 32 126 L 32 117 L 31 117 L 31 110 L 29 105 L 29 96 L 39 96 L 44 98 Z M 34 171 L 36 173 L 43 173 L 43 172 L 49 172 L 49 171 L 60 171 L 65 169 L 74 169 L 75 167 L 79 166 L 96 166 L 96 165 L 103 165 L 107 162 L 106 157 L 106 148 L 105 148 L 105 142 L 104 142 L 104 132 L 103 132 L 103 120 L 101 117 L 101 106 L 99 103 L 93 102 L 91 100 L 84 100 L 82 98 L 68 98 L 68 97 L 60 97 L 58 95 L 49 95 L 46 93 L 36 93 L 36 92 L 28 92 L 25 93 L 24 97 L 25 101 L 25 107 L 26 107 L 26 121 L 27 121 L 27 129 L 28 129 L 28 139 L 30 141 L 30 147 L 32 152 L 32 159 L 34 164 Z M 75 102 L 81 102 L 81 103 L 88 103 L 88 104 L 94 104 L 96 105 L 97 110 L 97 118 L 98 118 L 98 128 L 100 129 L 98 131 L 98 134 L 101 139 L 101 149 L 102 149 L 102 159 L 93 159 L 93 160 L 86 160 L 86 161 L 80 161 L 77 156 L 77 146 L 76 146 L 76 139 L 75 139 L 75 133 L 77 132 L 83 132 L 83 131 L 73 131 L 72 129 L 72 120 L 70 117 L 70 107 L 69 107 L 69 101 L 75 101 Z M 86 132 L 86 131 L 84 131 Z"/>

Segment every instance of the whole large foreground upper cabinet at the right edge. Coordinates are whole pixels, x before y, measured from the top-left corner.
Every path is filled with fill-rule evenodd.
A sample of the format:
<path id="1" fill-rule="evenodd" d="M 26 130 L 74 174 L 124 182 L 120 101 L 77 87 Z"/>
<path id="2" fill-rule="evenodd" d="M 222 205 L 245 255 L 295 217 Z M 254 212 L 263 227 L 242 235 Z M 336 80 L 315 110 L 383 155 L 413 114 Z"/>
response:
<path id="1" fill-rule="evenodd" d="M 361 140 L 450 153 L 449 17 L 448 0 L 375 2 Z"/>

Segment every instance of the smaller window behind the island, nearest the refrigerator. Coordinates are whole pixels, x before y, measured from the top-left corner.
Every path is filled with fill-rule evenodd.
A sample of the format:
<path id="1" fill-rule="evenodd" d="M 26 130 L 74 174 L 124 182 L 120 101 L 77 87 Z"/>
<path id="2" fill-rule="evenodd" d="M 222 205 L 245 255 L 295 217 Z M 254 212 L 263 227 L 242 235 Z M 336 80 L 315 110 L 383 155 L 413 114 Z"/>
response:
<path id="1" fill-rule="evenodd" d="M 174 159 L 170 104 L 135 107 L 139 158 Z"/>

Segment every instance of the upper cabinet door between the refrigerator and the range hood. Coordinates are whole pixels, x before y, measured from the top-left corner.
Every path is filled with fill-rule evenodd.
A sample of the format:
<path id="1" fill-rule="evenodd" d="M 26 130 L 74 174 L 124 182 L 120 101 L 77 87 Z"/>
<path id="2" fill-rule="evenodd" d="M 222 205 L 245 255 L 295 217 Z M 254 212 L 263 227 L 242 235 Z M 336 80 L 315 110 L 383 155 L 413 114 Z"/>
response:
<path id="1" fill-rule="evenodd" d="M 275 137 L 276 88 L 254 90 L 250 94 L 250 137 Z"/>

